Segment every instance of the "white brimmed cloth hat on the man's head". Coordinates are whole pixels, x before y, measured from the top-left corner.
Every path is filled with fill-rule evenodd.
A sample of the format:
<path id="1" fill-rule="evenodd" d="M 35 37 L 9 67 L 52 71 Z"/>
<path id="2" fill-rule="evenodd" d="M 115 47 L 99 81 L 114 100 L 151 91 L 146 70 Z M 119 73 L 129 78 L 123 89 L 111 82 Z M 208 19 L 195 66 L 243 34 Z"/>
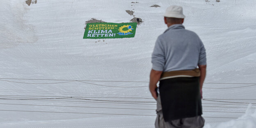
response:
<path id="1" fill-rule="evenodd" d="M 183 9 L 181 6 L 172 5 L 168 7 L 164 14 L 165 17 L 173 17 L 173 18 L 185 18 L 183 15 Z"/>

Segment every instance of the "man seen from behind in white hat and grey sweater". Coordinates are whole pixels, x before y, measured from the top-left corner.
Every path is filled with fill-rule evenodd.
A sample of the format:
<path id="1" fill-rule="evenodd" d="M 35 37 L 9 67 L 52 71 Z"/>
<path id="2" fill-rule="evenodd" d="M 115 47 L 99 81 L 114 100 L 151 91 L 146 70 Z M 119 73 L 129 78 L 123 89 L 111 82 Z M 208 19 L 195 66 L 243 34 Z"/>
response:
<path id="1" fill-rule="evenodd" d="M 167 30 L 155 42 L 149 89 L 157 101 L 155 128 L 203 128 L 202 87 L 206 50 L 201 39 L 182 25 L 180 6 L 164 14 Z M 157 88 L 156 84 L 160 81 Z"/>

